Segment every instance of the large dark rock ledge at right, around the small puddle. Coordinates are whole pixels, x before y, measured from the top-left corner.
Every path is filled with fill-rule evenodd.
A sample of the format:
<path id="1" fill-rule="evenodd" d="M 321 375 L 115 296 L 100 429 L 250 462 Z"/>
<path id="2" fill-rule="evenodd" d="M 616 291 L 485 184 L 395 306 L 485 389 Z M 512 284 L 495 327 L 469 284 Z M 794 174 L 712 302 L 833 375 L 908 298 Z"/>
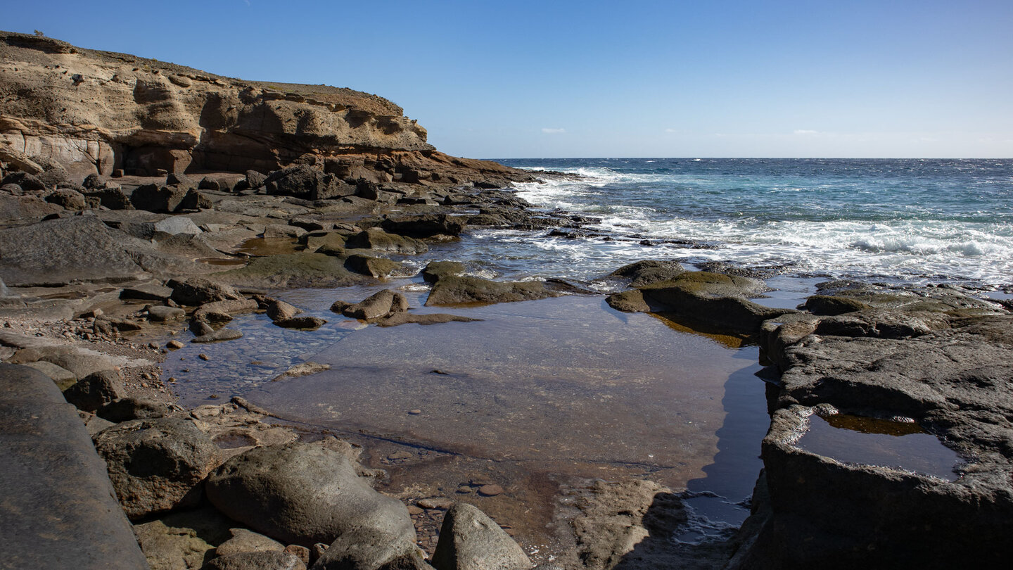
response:
<path id="1" fill-rule="evenodd" d="M 767 350 L 780 351 L 785 369 L 763 444 L 767 477 L 761 484 L 769 503 L 758 516 L 767 519 L 734 567 L 988 568 L 1008 562 L 1013 316 L 955 318 L 948 328 L 906 339 L 809 334 Z M 943 481 L 905 471 L 903 458 L 901 469 L 892 469 L 802 450 L 795 442 L 817 405 L 912 418 L 969 462 L 959 479 Z"/>

